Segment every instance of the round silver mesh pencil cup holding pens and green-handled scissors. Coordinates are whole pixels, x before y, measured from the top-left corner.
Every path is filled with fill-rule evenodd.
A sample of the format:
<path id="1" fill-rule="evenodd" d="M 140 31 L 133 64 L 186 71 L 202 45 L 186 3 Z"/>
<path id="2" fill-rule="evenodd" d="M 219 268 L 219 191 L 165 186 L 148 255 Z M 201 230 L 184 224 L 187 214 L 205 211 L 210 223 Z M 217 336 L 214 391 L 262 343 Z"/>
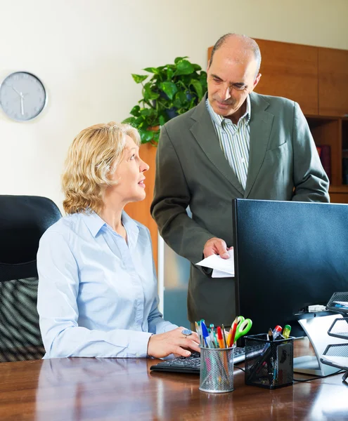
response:
<path id="1" fill-rule="evenodd" d="M 233 348 L 200 348 L 200 390 L 233 391 Z"/>

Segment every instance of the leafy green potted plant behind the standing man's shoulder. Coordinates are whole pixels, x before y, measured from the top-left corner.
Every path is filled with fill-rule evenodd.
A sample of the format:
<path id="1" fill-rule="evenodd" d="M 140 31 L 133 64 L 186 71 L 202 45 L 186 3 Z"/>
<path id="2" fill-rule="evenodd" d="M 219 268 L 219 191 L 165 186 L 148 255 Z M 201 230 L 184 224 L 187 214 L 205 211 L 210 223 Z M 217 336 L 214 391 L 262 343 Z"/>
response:
<path id="1" fill-rule="evenodd" d="M 152 76 L 146 81 L 148 74 L 131 75 L 136 83 L 143 85 L 143 96 L 123 123 L 138 129 L 141 143 L 157 145 L 160 126 L 200 102 L 207 91 L 207 73 L 187 57 L 177 57 L 173 65 L 143 70 Z"/>

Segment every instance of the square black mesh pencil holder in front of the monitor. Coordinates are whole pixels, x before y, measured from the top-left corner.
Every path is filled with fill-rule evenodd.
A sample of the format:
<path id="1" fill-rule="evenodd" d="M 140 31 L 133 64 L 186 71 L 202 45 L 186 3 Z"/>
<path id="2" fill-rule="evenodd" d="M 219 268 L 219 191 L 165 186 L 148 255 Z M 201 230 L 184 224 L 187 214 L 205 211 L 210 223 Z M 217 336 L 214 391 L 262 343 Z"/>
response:
<path id="1" fill-rule="evenodd" d="M 294 338 L 268 340 L 266 333 L 245 336 L 245 385 L 277 389 L 292 385 Z"/>

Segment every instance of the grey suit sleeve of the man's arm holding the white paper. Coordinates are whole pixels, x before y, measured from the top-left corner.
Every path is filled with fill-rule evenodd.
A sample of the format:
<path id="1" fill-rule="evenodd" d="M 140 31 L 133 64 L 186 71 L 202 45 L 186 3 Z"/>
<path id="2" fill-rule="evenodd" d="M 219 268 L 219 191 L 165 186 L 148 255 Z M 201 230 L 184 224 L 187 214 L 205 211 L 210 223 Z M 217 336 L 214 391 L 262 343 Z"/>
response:
<path id="1" fill-rule="evenodd" d="M 205 243 L 214 235 L 188 216 L 186 208 L 190 200 L 191 194 L 179 156 L 164 126 L 156 155 L 151 213 L 168 246 L 195 264 L 202 260 Z"/>

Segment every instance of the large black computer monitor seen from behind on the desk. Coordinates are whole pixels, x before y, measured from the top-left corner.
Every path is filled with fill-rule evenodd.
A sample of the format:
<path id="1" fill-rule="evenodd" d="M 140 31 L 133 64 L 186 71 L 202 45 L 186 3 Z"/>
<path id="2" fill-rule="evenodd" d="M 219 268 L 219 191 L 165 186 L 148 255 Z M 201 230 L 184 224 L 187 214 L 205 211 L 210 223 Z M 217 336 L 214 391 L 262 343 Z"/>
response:
<path id="1" fill-rule="evenodd" d="M 250 334 L 292 326 L 348 291 L 348 205 L 233 199 L 237 314 Z"/>

